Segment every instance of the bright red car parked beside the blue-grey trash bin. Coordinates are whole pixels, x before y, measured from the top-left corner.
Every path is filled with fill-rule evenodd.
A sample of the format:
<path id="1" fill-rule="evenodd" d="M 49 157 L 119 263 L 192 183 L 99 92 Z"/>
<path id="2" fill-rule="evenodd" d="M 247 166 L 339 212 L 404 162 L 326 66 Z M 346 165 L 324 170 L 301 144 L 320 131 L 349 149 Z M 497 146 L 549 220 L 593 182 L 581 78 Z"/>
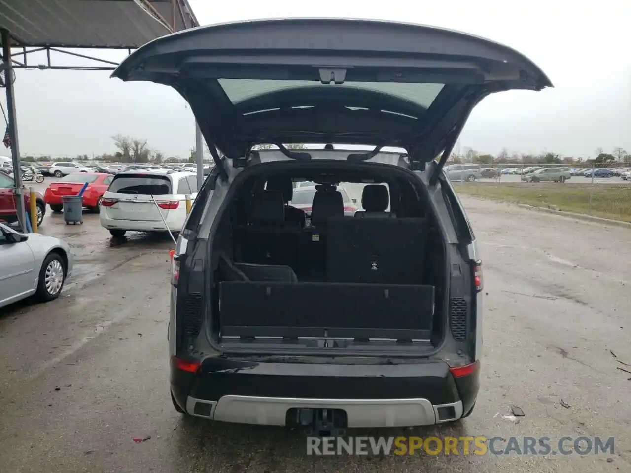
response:
<path id="1" fill-rule="evenodd" d="M 100 172 L 68 174 L 57 182 L 50 183 L 44 192 L 44 200 L 53 212 L 61 212 L 64 207 L 63 196 L 76 196 L 87 182 L 88 187 L 83 192 L 83 206 L 98 213 L 101 209 L 101 197 L 113 178 L 111 174 Z"/>

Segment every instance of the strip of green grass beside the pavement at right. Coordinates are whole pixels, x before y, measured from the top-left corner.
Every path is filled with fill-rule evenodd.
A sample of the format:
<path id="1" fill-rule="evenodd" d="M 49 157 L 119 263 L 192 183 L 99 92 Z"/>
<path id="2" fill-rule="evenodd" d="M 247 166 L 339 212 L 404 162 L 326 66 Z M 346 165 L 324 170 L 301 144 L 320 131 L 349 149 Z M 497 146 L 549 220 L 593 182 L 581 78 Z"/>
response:
<path id="1" fill-rule="evenodd" d="M 631 184 L 456 184 L 456 192 L 631 222 Z"/>

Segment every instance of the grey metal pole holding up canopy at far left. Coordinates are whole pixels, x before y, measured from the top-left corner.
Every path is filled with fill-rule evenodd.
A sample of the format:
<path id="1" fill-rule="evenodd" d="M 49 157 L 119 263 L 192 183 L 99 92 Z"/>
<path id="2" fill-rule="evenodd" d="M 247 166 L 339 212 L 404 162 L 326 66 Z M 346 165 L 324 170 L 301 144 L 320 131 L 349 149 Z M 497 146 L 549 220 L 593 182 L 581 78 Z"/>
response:
<path id="1" fill-rule="evenodd" d="M 9 135 L 11 136 L 11 158 L 13 161 L 13 177 L 15 187 L 15 209 L 18 214 L 18 225 L 20 231 L 27 230 L 27 213 L 22 196 L 22 170 L 20 169 L 20 146 L 18 143 L 18 124 L 15 118 L 15 94 L 13 91 L 13 64 L 11 62 L 11 35 L 9 30 L 2 28 L 2 47 L 4 58 L 4 79 L 6 88 L 6 114 L 9 121 Z"/>

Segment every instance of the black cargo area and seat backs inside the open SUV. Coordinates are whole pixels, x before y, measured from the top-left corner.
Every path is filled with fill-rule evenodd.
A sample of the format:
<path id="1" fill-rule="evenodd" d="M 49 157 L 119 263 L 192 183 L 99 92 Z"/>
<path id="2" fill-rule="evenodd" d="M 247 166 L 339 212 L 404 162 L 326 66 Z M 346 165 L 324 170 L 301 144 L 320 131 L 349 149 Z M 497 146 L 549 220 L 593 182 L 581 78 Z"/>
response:
<path id="1" fill-rule="evenodd" d="M 392 212 L 344 216 L 335 187 L 319 192 L 306 226 L 274 190 L 253 194 L 247 213 L 232 209 L 216 244 L 213 338 L 230 347 L 433 349 L 444 252 L 440 238 L 428 242 L 427 214 L 394 202 Z"/>

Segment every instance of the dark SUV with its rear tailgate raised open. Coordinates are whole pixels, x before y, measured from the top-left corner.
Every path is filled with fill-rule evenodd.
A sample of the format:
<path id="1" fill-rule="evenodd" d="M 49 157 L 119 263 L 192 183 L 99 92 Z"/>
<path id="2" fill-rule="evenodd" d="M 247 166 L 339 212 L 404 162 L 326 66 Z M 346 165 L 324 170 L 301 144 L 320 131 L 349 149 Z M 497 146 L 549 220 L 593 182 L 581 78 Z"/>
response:
<path id="1" fill-rule="evenodd" d="M 533 62 L 439 28 L 292 19 L 168 35 L 114 76 L 179 91 L 216 162 L 173 259 L 175 409 L 331 428 L 471 414 L 481 262 L 442 167 L 485 96 L 551 86 Z M 317 186 L 306 209 L 297 181 Z M 354 216 L 341 184 L 365 185 Z"/>

